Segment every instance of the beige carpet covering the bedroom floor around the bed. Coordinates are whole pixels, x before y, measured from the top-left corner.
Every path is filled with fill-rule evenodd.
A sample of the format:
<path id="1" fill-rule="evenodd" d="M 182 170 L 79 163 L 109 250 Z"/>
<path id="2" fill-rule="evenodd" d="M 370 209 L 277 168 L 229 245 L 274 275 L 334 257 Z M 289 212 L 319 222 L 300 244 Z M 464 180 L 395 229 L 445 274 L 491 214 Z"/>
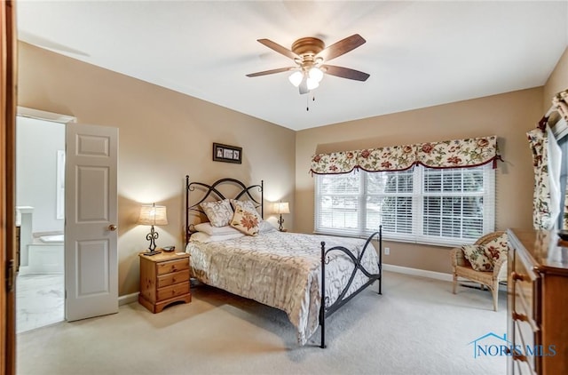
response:
<path id="1" fill-rule="evenodd" d="M 385 273 L 298 347 L 286 315 L 206 286 L 153 315 L 138 303 L 18 335 L 19 374 L 504 374 L 469 342 L 506 331 L 506 296 Z"/>

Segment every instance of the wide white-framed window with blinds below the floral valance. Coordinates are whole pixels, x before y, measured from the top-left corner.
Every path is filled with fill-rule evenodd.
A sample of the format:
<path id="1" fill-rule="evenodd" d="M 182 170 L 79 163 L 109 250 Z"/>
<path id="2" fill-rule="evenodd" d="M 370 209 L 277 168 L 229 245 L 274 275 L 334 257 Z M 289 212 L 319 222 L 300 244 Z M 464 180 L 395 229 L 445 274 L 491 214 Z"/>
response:
<path id="1" fill-rule="evenodd" d="M 494 170 L 430 169 L 316 175 L 315 232 L 394 241 L 470 242 L 494 230 Z"/>

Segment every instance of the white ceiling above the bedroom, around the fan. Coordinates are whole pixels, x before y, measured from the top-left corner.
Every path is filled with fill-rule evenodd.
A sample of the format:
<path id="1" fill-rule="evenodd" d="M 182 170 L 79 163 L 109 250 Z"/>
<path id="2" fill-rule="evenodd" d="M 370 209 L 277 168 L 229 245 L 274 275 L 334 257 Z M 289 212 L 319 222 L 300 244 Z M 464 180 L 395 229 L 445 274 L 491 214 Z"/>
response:
<path id="1" fill-rule="evenodd" d="M 19 38 L 77 60 L 301 130 L 540 86 L 568 45 L 568 2 L 28 1 Z M 331 61 L 310 100 L 256 42 L 367 43 Z"/>

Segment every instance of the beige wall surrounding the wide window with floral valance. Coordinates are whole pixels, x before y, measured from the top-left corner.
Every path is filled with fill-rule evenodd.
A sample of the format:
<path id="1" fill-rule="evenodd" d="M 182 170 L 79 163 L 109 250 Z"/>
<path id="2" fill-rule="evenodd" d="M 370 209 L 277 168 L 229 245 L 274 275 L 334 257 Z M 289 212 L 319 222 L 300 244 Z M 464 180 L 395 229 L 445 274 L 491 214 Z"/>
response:
<path id="1" fill-rule="evenodd" d="M 378 99 L 377 99 L 378 100 Z M 496 227 L 532 227 L 533 164 L 525 132 L 542 116 L 542 88 L 296 132 L 296 231 L 313 229 L 315 153 L 497 135 Z M 449 248 L 386 242 L 385 263 L 450 273 Z"/>

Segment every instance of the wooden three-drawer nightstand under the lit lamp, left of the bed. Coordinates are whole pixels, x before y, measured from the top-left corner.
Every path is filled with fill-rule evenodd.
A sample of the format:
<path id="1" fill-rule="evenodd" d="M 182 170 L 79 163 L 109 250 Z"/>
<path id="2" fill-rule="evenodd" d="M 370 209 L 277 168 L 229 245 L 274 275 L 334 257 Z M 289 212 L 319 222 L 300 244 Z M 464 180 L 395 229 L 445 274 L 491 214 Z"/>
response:
<path id="1" fill-rule="evenodd" d="M 189 254 L 161 252 L 140 258 L 140 294 L 138 302 L 159 313 L 173 302 L 189 303 L 192 293 L 189 290 Z"/>

